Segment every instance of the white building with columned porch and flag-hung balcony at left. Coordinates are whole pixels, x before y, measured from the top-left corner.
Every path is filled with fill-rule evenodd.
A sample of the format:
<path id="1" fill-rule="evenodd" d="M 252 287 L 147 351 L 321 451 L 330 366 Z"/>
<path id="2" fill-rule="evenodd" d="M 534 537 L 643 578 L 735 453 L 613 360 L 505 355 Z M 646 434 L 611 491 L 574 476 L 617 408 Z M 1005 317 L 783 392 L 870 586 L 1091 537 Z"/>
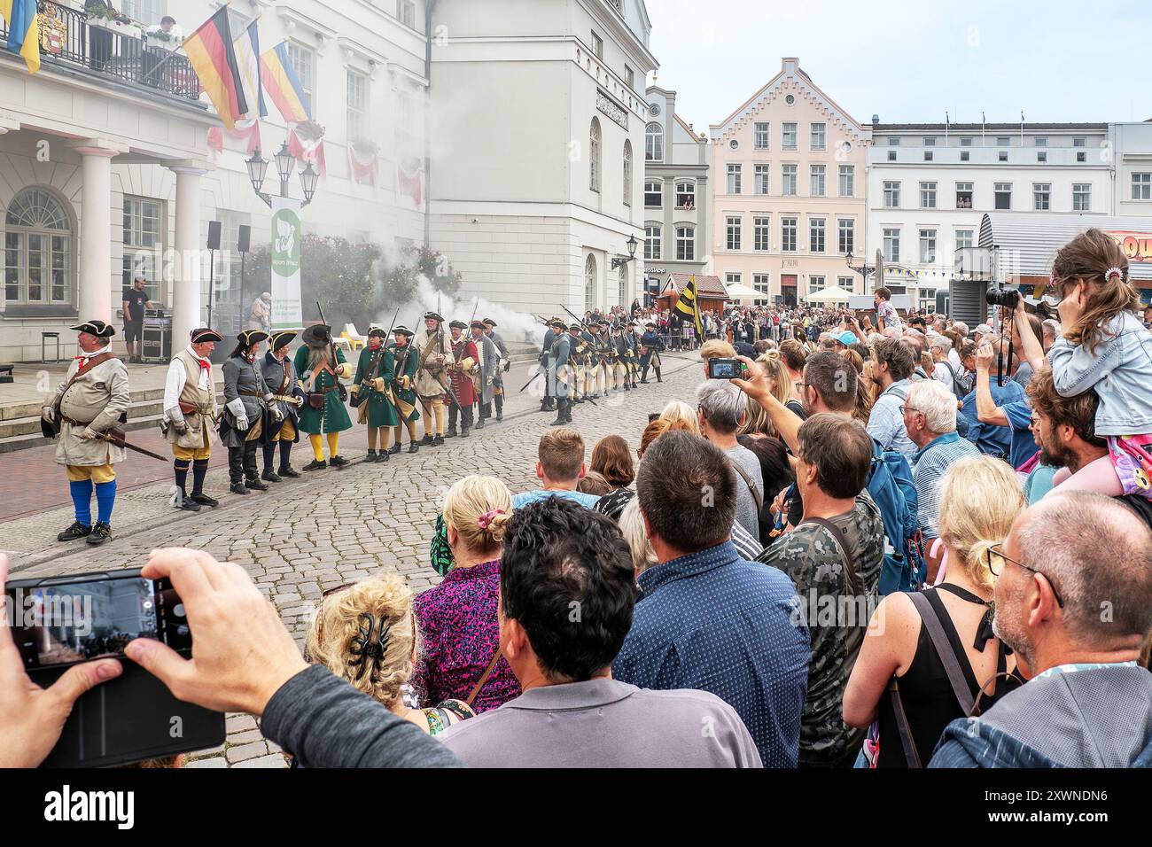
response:
<path id="1" fill-rule="evenodd" d="M 172 15 L 191 35 L 220 3 L 126 0 L 116 6 L 145 27 Z M 48 27 L 58 29 L 54 50 L 41 51 L 39 73 L 29 75 L 20 56 L 0 51 L 6 248 L 0 361 L 39 360 L 45 332 L 60 332 L 61 353 L 70 355 L 75 334 L 66 327 L 77 320 L 99 318 L 120 327 L 121 293 L 137 274 L 146 278 L 150 297 L 172 313 L 174 348 L 207 317 L 210 266 L 218 303 L 213 325 L 234 325 L 238 316 L 230 312 L 245 309 L 270 286 L 249 279 L 243 296 L 238 290 L 240 226 L 251 227 L 253 249 L 270 240 L 271 211 L 257 198 L 245 167 L 249 139 L 218 129 L 220 149 L 210 144 L 210 130 L 220 121 L 207 99 L 197 96 L 182 54 L 145 75 L 134 39 L 116 36 L 112 55 L 98 54 L 83 2 L 43 7 L 52 16 Z M 312 97 L 312 118 L 326 129 L 326 173 L 302 213 L 305 233 L 388 249 L 423 240 L 423 8 L 412 0 L 294 0 L 290 8 L 267 0 L 230 3 L 234 37 L 259 16 L 263 50 L 287 40 L 293 67 Z M 287 127 L 271 99 L 267 107 L 259 133 L 263 154 L 272 159 Z M 278 181 L 272 165 L 264 190 L 275 194 Z M 301 197 L 295 175 L 289 192 Z M 214 262 L 205 249 L 213 220 L 222 225 Z M 221 320 L 221 308 L 229 310 L 228 320 Z M 54 341 L 47 351 L 54 355 Z"/>

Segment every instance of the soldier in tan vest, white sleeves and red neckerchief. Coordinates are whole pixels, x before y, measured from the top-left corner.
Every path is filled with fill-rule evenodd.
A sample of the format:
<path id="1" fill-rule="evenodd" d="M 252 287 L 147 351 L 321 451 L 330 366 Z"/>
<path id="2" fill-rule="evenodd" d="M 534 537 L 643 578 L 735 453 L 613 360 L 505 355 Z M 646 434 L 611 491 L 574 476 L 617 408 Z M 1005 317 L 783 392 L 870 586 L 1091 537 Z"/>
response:
<path id="1" fill-rule="evenodd" d="M 192 330 L 189 345 L 172 357 L 164 386 L 164 421 L 160 432 L 172 445 L 175 468 L 176 508 L 199 512 L 200 506 L 220 502 L 204 493 L 204 477 L 212 457 L 211 432 L 220 418 L 209 356 L 223 336 L 215 330 Z M 188 471 L 192 471 L 192 493 L 188 494 Z"/>

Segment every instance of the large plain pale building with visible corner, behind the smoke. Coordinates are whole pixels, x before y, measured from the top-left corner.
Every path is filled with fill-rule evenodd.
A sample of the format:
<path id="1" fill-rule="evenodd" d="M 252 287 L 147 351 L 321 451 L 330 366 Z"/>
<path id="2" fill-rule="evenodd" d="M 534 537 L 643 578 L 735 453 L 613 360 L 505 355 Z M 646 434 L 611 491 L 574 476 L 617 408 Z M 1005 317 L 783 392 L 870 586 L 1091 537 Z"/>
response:
<path id="1" fill-rule="evenodd" d="M 548 315 L 630 304 L 657 67 L 643 0 L 439 0 L 431 27 L 430 243 L 462 272 L 461 297 Z"/>

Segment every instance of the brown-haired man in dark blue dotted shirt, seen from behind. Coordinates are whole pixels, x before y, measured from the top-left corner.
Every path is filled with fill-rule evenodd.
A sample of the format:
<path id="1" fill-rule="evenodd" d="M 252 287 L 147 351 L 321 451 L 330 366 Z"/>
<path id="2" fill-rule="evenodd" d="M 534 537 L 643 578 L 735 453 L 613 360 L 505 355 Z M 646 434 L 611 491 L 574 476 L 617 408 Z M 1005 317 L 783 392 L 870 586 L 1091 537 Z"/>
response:
<path id="1" fill-rule="evenodd" d="M 659 564 L 639 575 L 612 674 L 715 694 L 740 713 L 765 767 L 795 767 L 809 632 L 791 580 L 729 540 L 736 483 L 725 454 L 690 432 L 666 432 L 644 453 L 636 490 Z"/>

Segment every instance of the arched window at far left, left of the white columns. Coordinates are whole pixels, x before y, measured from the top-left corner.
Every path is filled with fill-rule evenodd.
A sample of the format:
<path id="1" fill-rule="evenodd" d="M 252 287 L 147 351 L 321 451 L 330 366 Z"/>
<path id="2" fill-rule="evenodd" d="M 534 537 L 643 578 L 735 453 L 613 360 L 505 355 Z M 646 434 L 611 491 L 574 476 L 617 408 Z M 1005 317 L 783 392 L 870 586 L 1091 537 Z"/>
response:
<path id="1" fill-rule="evenodd" d="M 25 188 L 8 205 L 3 236 L 9 304 L 71 303 L 71 219 L 55 195 Z"/>

